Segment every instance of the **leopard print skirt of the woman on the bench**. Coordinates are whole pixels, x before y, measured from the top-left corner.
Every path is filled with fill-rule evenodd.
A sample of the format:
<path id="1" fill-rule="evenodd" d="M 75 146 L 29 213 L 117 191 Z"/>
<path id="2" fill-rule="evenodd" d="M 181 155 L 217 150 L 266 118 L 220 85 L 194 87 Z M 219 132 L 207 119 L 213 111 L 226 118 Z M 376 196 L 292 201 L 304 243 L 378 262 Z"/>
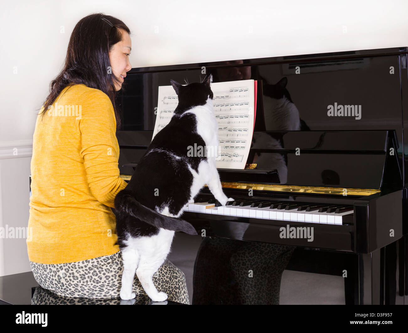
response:
<path id="1" fill-rule="evenodd" d="M 98 299 L 120 298 L 123 274 L 122 253 L 120 251 L 110 256 L 101 256 L 75 263 L 41 264 L 30 261 L 30 266 L 37 283 L 43 289 L 59 296 Z M 167 294 L 168 300 L 190 304 L 184 273 L 167 259 L 153 275 L 153 282 L 158 291 L 164 291 Z M 132 292 L 136 294 L 136 299 L 140 298 L 142 303 L 149 300 L 136 275 Z M 32 302 L 36 301 L 40 300 L 32 300 Z"/>

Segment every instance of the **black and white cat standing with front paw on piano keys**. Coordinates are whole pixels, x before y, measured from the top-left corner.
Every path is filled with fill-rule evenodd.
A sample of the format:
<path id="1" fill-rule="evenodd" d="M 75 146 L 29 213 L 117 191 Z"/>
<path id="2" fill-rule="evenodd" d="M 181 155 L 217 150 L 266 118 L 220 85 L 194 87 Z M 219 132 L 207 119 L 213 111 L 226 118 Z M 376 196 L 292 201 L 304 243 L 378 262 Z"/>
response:
<path id="1" fill-rule="evenodd" d="M 222 191 L 215 166 L 217 149 L 205 156 L 188 153 L 195 144 L 204 151 L 218 147 L 212 81 L 212 75 L 202 83 L 185 86 L 171 80 L 178 96 L 173 117 L 155 135 L 129 184 L 115 197 L 117 243 L 124 265 L 120 289 L 123 300 L 135 298 L 135 273 L 151 300 L 167 299 L 153 284 L 153 274 L 169 254 L 175 231 L 197 234 L 179 216 L 205 184 L 221 204 L 233 201 Z"/>

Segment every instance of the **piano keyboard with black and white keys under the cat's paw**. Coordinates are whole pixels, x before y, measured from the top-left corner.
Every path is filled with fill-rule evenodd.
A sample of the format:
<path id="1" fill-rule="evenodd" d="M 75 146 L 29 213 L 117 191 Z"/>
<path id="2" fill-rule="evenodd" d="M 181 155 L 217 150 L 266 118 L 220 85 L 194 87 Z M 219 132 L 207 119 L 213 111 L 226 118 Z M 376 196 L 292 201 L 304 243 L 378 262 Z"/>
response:
<path id="1" fill-rule="evenodd" d="M 222 206 L 214 198 L 197 198 L 184 211 L 224 216 L 253 217 L 280 221 L 321 224 L 353 224 L 353 206 L 237 199 Z"/>

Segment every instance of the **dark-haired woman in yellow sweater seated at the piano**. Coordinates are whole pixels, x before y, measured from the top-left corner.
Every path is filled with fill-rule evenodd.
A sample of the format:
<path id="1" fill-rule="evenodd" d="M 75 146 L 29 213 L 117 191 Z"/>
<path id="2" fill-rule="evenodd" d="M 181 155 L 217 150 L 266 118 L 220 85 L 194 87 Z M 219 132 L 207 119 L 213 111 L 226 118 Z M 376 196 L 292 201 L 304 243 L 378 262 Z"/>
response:
<path id="1" fill-rule="evenodd" d="M 109 15 L 82 18 L 35 124 L 27 249 L 35 280 L 60 296 L 119 297 L 123 265 L 111 208 L 126 182 L 115 94 L 131 69 L 129 33 Z M 155 285 L 189 304 L 185 276 L 170 261 Z M 133 292 L 144 294 L 137 276 Z"/>

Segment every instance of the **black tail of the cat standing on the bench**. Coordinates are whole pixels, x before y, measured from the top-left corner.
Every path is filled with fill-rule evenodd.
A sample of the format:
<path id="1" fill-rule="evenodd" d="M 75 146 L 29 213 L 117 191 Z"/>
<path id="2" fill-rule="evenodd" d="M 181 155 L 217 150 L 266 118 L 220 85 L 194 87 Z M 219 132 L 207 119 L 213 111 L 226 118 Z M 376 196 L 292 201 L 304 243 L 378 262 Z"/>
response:
<path id="1" fill-rule="evenodd" d="M 187 221 L 180 219 L 179 217 L 169 217 L 157 213 L 155 210 L 142 205 L 132 195 L 126 192 L 126 190 L 122 190 L 116 195 L 115 210 L 118 210 L 120 213 L 127 213 L 133 217 L 137 217 L 156 228 L 182 231 L 190 235 L 197 234 L 194 227 Z"/>

